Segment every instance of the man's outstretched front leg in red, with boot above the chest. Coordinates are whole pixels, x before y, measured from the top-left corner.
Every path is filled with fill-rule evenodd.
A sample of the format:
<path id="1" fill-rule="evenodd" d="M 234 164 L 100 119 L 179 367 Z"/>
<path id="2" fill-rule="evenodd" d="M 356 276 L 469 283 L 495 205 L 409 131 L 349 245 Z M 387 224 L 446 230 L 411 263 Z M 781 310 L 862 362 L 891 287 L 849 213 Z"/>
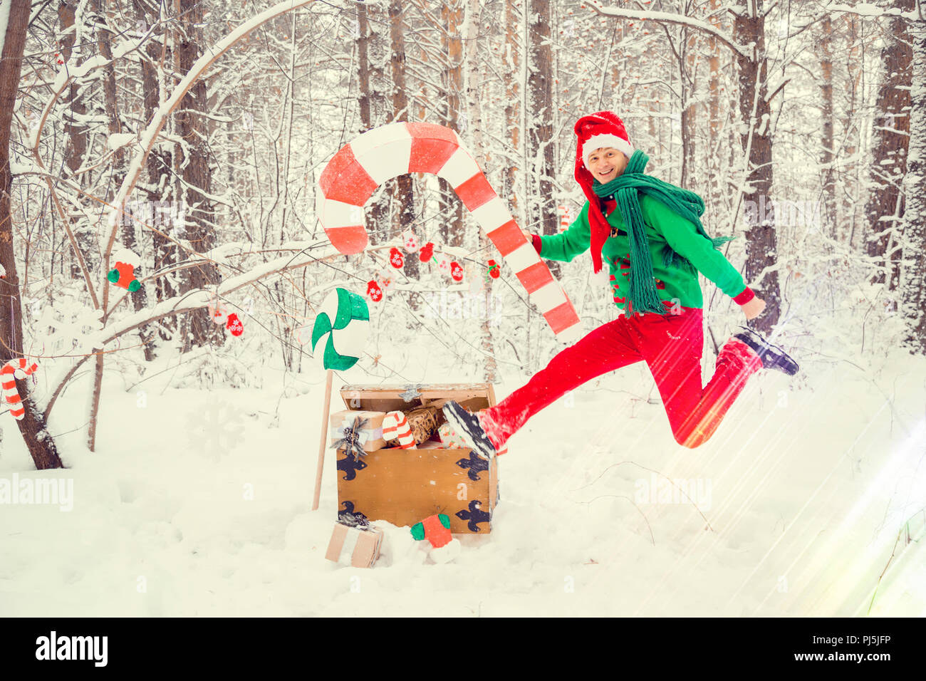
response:
<path id="1" fill-rule="evenodd" d="M 534 414 L 567 391 L 643 359 L 627 326 L 623 316 L 602 324 L 559 352 L 526 385 L 491 409 L 472 414 L 456 402 L 447 402 L 444 416 L 470 447 L 486 459 L 492 458 Z"/>

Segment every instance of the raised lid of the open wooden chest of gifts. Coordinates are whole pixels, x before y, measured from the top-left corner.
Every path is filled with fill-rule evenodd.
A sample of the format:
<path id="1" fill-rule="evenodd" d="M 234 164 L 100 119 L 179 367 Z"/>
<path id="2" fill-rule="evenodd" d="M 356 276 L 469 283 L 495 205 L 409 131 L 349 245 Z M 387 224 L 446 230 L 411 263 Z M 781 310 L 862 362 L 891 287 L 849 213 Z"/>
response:
<path id="1" fill-rule="evenodd" d="M 411 392 L 420 397 L 406 401 L 408 385 L 344 385 L 341 398 L 351 410 L 393 411 L 426 407 L 432 402 L 452 399 L 470 411 L 495 406 L 495 391 L 489 383 L 416 385 Z"/>

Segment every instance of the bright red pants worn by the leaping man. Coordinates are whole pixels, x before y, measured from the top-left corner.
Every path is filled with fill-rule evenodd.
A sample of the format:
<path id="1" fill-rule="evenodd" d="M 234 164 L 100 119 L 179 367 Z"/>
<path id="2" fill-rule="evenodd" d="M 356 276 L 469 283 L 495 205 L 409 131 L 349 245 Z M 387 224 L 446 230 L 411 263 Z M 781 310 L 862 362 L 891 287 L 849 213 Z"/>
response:
<path id="1" fill-rule="evenodd" d="M 527 385 L 485 410 L 486 433 L 501 449 L 535 413 L 568 390 L 642 360 L 656 379 L 676 441 L 697 447 L 714 435 L 746 380 L 762 367 L 750 347 L 731 338 L 720 348 L 714 375 L 702 387 L 703 346 L 701 309 L 682 308 L 675 315 L 621 315 L 559 352 Z"/>

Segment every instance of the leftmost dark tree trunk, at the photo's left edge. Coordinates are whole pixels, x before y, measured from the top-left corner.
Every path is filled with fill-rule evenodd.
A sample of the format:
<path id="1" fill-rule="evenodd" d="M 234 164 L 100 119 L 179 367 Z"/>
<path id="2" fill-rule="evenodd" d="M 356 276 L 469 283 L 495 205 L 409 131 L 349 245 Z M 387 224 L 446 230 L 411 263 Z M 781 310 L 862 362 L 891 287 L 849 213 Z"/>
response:
<path id="1" fill-rule="evenodd" d="M 13 211 L 11 187 L 13 175 L 9 163 L 10 129 L 16 103 L 22 55 L 26 46 L 30 0 L 5 0 L 9 3 L 3 54 L 0 59 L 0 265 L 6 278 L 0 279 L 0 362 L 23 356 L 22 301 L 19 294 L 19 273 L 13 247 Z M 19 433 L 39 470 L 63 468 L 55 440 L 45 430 L 42 413 L 35 409 L 28 381 L 17 381 L 16 389 L 23 397 L 25 416 L 17 421 Z M 11 418 L 11 417 L 4 417 Z"/>

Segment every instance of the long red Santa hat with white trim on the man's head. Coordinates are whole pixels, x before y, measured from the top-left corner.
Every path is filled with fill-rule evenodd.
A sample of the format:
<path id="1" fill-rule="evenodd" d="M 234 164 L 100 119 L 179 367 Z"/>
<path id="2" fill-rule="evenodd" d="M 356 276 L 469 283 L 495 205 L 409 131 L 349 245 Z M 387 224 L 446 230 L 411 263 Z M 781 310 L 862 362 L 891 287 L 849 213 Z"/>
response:
<path id="1" fill-rule="evenodd" d="M 605 245 L 611 228 L 598 203 L 598 196 L 592 188 L 594 177 L 588 170 L 588 158 L 595 149 L 613 147 L 623 152 L 627 158 L 633 155 L 633 146 L 624 121 L 610 111 L 598 111 L 591 116 L 582 116 L 576 121 L 576 182 L 582 187 L 582 193 L 589 202 L 588 221 L 591 226 L 592 263 L 594 271 L 601 271 L 601 247 Z"/>

